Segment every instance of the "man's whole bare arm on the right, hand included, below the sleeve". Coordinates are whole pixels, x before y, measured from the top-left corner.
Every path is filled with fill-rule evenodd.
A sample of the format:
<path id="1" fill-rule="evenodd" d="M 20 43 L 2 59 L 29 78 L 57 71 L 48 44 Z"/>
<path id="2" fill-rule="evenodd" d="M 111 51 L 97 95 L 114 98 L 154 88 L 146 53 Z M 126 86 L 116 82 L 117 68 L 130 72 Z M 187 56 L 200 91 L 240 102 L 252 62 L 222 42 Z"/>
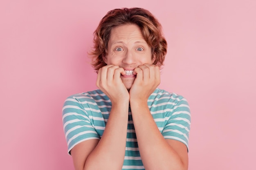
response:
<path id="1" fill-rule="evenodd" d="M 148 109 L 147 99 L 160 82 L 159 68 L 144 64 L 136 68 L 137 77 L 130 89 L 130 106 L 141 160 L 146 170 L 187 170 L 186 146 L 164 139 Z"/>

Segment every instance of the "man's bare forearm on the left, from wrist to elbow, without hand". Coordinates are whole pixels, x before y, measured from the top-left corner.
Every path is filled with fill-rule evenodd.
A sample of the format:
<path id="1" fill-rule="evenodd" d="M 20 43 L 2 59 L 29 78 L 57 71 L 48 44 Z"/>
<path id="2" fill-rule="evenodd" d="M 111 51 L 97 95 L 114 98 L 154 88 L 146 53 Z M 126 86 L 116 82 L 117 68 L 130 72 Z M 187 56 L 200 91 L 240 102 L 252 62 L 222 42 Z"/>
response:
<path id="1" fill-rule="evenodd" d="M 127 124 L 128 103 L 112 105 L 103 135 L 88 156 L 84 170 L 121 170 L 125 156 Z"/>

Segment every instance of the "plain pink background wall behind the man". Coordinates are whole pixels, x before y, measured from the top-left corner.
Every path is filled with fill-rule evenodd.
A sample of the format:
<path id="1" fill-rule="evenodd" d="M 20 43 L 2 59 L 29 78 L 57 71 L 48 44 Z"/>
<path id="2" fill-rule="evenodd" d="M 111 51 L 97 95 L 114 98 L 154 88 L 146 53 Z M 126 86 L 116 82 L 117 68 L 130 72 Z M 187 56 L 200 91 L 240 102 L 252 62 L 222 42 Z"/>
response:
<path id="1" fill-rule="evenodd" d="M 255 170 L 255 0 L 1 1 L 0 169 L 74 170 L 62 105 L 96 88 L 92 33 L 120 7 L 143 7 L 162 23 L 159 87 L 189 101 L 189 170 Z"/>

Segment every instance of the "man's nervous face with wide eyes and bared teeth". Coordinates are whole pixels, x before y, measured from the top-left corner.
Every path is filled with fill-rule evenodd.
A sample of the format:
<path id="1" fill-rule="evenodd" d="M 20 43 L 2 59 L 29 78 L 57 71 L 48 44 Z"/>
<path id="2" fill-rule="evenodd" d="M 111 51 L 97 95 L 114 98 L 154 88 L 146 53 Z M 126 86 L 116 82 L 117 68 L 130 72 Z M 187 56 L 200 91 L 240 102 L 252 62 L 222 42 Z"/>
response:
<path id="1" fill-rule="evenodd" d="M 121 75 L 121 80 L 127 89 L 131 88 L 136 78 L 132 74 L 134 68 L 153 63 L 151 48 L 137 25 L 126 24 L 111 30 L 105 62 L 124 68 L 126 75 Z"/>

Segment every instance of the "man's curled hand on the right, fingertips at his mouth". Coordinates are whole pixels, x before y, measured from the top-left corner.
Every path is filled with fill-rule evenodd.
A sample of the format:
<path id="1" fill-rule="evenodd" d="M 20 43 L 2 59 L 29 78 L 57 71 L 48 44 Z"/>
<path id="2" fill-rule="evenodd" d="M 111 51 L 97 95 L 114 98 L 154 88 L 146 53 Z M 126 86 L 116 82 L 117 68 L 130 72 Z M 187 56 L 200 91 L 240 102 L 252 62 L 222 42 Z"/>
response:
<path id="1" fill-rule="evenodd" d="M 159 67 L 144 64 L 135 68 L 133 74 L 136 74 L 136 78 L 130 88 L 130 101 L 145 103 L 160 84 Z"/>

